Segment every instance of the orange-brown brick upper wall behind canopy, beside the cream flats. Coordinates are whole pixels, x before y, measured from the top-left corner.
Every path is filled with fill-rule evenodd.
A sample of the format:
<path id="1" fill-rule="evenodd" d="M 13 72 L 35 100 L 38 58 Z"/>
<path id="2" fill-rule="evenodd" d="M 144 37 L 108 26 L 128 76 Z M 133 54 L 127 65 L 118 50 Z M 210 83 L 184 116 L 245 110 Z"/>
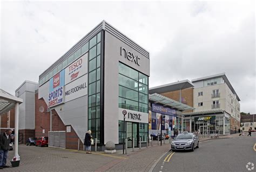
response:
<path id="1" fill-rule="evenodd" d="M 181 97 L 183 98 L 183 101 L 184 101 L 182 103 L 184 103 L 188 106 L 191 106 L 191 107 L 193 107 L 193 105 L 194 105 L 193 104 L 193 90 L 194 90 L 194 88 L 187 88 L 187 89 L 181 90 Z M 180 99 L 180 90 L 161 93 L 161 95 L 171 98 L 174 101 L 178 101 L 178 102 L 180 101 L 179 100 Z M 188 113 L 188 112 L 193 112 L 193 110 L 185 111 L 185 113 Z"/>

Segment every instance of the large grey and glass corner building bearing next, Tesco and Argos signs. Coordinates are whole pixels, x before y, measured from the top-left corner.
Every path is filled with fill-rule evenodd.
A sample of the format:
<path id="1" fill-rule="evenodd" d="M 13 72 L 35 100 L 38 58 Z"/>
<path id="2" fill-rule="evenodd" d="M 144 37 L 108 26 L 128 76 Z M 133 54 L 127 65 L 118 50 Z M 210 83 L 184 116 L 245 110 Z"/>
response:
<path id="1" fill-rule="evenodd" d="M 138 145 L 148 131 L 149 76 L 149 52 L 102 21 L 39 76 L 36 131 L 49 146 L 78 148 L 91 130 L 104 150 L 107 141 L 122 148 L 136 127 Z"/>

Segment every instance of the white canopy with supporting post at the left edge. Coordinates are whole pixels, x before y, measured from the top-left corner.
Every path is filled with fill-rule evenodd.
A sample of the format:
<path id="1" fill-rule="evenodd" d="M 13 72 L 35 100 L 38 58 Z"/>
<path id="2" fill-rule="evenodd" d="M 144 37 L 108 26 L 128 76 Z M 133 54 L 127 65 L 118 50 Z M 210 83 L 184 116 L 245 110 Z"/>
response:
<path id="1" fill-rule="evenodd" d="M 8 112 L 15 106 L 15 136 L 14 142 L 16 143 L 14 146 L 14 156 L 16 160 L 19 160 L 18 155 L 18 132 L 19 132 L 19 104 L 23 102 L 23 99 L 12 96 L 8 92 L 0 89 L 0 115 L 4 112 Z"/>

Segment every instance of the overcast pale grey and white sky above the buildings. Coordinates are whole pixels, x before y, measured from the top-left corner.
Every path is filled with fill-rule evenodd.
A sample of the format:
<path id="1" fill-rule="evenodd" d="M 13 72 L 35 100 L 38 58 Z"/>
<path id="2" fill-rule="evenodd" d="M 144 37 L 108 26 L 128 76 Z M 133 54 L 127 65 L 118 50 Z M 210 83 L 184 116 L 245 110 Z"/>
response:
<path id="1" fill-rule="evenodd" d="M 102 20 L 150 52 L 150 85 L 226 73 L 256 113 L 254 1 L 1 1 L 0 88 L 15 95 Z"/>

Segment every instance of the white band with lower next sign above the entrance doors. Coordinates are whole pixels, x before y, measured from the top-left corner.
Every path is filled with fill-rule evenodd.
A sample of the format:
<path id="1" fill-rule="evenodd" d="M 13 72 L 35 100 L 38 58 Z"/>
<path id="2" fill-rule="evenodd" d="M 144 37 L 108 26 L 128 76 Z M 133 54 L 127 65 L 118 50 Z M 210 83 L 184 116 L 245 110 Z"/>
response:
<path id="1" fill-rule="evenodd" d="M 144 112 L 132 111 L 128 109 L 119 108 L 119 120 L 132 121 L 137 123 L 149 123 L 149 114 Z"/>

